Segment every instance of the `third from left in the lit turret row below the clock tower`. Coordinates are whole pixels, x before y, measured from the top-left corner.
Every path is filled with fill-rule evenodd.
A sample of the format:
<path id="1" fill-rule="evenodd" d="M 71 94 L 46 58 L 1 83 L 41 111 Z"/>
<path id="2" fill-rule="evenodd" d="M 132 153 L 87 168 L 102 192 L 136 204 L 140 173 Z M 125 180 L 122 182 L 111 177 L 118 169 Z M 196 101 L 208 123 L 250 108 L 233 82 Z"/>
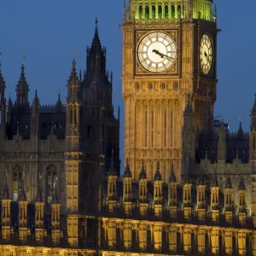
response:
<path id="1" fill-rule="evenodd" d="M 147 216 L 148 212 L 148 178 L 144 161 L 139 175 L 139 211 L 141 216 Z"/>

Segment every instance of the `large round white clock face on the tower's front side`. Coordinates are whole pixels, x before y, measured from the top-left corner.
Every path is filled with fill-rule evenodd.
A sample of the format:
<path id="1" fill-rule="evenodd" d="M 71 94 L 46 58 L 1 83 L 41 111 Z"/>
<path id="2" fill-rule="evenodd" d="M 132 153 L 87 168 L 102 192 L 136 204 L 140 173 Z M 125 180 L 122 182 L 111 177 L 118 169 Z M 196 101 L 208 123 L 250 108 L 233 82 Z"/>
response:
<path id="1" fill-rule="evenodd" d="M 138 46 L 138 59 L 152 73 L 161 73 L 177 60 L 177 46 L 172 37 L 163 32 L 146 35 Z"/>

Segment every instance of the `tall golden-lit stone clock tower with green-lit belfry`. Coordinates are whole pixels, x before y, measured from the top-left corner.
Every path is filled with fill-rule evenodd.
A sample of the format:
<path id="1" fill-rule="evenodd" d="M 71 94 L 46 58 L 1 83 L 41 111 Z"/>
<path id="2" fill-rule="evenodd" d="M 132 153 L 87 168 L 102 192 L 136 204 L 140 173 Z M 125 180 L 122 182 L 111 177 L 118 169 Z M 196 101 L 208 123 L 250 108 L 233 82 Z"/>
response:
<path id="1" fill-rule="evenodd" d="M 135 179 L 142 160 L 149 180 L 157 162 L 165 182 L 172 165 L 180 179 L 186 145 L 183 112 L 188 102 L 198 131 L 212 123 L 216 10 L 212 14 L 211 0 L 130 0 L 122 28 L 125 158 Z M 190 151 L 193 162 L 195 147 Z"/>

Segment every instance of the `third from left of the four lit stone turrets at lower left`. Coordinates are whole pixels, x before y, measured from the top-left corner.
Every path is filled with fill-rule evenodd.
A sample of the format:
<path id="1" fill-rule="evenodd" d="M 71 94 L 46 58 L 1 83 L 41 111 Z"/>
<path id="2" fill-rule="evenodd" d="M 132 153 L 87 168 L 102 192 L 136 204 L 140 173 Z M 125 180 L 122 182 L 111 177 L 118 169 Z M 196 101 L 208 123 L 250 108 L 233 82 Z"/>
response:
<path id="1" fill-rule="evenodd" d="M 36 241 L 42 243 L 44 241 L 44 198 L 41 174 L 38 178 L 38 195 L 35 201 L 35 233 Z"/>

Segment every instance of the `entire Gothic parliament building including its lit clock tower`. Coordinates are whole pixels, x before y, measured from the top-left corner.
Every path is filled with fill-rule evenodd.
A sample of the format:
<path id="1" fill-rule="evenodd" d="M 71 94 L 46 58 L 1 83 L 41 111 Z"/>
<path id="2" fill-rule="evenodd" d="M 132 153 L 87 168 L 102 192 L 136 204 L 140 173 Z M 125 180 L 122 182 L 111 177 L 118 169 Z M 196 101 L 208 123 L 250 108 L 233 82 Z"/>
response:
<path id="1" fill-rule="evenodd" d="M 16 98 L 0 73 L 0 255 L 256 255 L 256 99 L 249 132 L 213 119 L 212 0 L 123 9 L 125 172 L 119 111 L 96 24 L 67 100 Z M 4 63 L 3 63 L 4 65 Z"/>

